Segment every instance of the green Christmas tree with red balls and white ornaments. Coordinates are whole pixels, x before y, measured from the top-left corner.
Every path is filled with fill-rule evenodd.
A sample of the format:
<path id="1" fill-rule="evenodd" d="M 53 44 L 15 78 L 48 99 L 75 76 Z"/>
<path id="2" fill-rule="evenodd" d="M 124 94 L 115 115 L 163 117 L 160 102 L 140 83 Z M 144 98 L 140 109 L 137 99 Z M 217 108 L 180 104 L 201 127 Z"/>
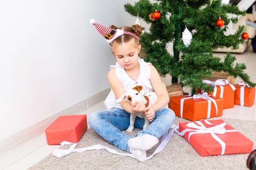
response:
<path id="1" fill-rule="evenodd" d="M 141 35 L 141 45 L 146 52 L 146 61 L 151 62 L 161 76 L 171 75 L 172 83 L 189 87 L 192 95 L 197 89 L 212 92 L 213 86 L 202 83 L 212 72 L 226 72 L 240 77 L 254 87 L 244 73 L 244 63 L 236 63 L 236 57 L 227 53 L 222 60 L 213 56 L 214 49 L 231 47 L 238 49 L 245 43 L 245 27 L 233 30 L 232 23 L 239 15 L 245 15 L 229 0 L 139 0 L 125 4 L 131 15 L 150 24 L 150 29 Z M 246 34 L 246 33 L 245 33 Z M 166 49 L 173 43 L 173 54 Z"/>

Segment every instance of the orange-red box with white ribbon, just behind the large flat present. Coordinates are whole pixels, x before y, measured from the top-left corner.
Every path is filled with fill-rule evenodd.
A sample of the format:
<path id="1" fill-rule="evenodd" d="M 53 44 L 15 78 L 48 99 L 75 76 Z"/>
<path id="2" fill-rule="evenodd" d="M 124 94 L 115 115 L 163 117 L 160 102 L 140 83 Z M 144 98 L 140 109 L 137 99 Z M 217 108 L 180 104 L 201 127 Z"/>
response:
<path id="1" fill-rule="evenodd" d="M 222 116 L 223 99 L 207 95 L 188 95 L 170 97 L 170 108 L 175 115 L 196 121 Z"/>

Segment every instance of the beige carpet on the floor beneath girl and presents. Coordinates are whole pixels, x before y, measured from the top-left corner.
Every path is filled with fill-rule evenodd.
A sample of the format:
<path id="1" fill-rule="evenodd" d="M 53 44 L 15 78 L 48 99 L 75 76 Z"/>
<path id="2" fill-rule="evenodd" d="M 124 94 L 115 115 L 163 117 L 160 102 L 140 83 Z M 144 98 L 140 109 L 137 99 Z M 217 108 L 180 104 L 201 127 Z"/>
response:
<path id="1" fill-rule="evenodd" d="M 254 142 L 254 149 L 256 149 L 256 121 L 222 119 L 251 139 Z M 177 125 L 179 122 L 184 121 L 187 120 L 176 117 L 175 124 Z M 134 135 L 135 132 L 138 132 L 138 129 L 133 130 L 130 134 Z M 101 144 L 118 152 L 124 152 L 109 144 L 92 129 L 88 129 L 85 132 L 76 148 L 95 144 Z M 147 155 L 151 155 L 158 145 L 149 150 Z M 69 147 L 61 146 L 61 149 L 68 149 Z M 49 155 L 29 168 L 29 170 L 246 170 L 248 155 L 201 157 L 184 137 L 174 133 L 162 152 L 142 163 L 131 157 L 111 154 L 107 150 L 90 150 L 81 153 L 72 152 L 70 155 L 60 159 Z"/>

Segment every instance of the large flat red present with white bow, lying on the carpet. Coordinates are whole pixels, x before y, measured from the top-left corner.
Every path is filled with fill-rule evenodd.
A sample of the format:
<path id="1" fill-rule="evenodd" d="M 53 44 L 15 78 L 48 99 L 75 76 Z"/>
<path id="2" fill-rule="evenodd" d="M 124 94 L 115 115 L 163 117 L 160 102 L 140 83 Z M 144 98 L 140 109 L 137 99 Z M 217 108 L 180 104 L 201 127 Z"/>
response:
<path id="1" fill-rule="evenodd" d="M 250 153 L 253 142 L 222 119 L 179 124 L 183 136 L 201 156 Z"/>

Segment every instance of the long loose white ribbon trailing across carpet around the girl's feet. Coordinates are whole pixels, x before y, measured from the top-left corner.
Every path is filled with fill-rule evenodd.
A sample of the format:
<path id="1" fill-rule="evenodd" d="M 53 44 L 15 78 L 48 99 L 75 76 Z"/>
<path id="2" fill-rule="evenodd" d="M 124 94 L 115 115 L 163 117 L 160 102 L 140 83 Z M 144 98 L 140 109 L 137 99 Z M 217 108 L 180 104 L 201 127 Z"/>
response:
<path id="1" fill-rule="evenodd" d="M 153 152 L 152 155 L 150 155 L 149 157 L 147 157 L 145 159 L 145 161 L 147 159 L 151 159 L 153 157 L 153 155 L 159 153 L 160 151 L 162 151 L 164 149 L 164 147 L 166 146 L 168 141 L 170 141 L 171 137 L 173 136 L 173 132 L 175 130 L 174 127 L 175 127 L 175 124 L 173 124 L 171 126 L 172 129 L 170 130 L 169 133 L 168 133 L 168 130 L 167 130 L 167 132 L 164 133 L 164 135 L 162 136 L 162 141 L 161 141 L 160 145 L 157 147 L 157 149 L 155 150 L 155 152 Z M 106 149 L 108 152 L 110 152 L 112 154 L 121 155 L 121 156 L 128 156 L 128 157 L 132 157 L 132 158 L 137 159 L 133 154 L 119 153 L 114 149 L 108 148 L 108 147 L 100 145 L 100 144 L 94 145 L 94 146 L 89 146 L 89 147 L 86 147 L 86 148 L 75 149 L 76 145 L 79 144 L 79 143 L 71 143 L 71 142 L 67 142 L 67 141 L 61 142 L 61 146 L 67 145 L 67 144 L 73 144 L 73 145 L 71 145 L 69 149 L 54 149 L 52 155 L 54 155 L 57 158 L 61 158 L 61 157 L 64 157 L 65 155 L 69 155 L 71 152 L 84 152 L 86 150 Z"/>

